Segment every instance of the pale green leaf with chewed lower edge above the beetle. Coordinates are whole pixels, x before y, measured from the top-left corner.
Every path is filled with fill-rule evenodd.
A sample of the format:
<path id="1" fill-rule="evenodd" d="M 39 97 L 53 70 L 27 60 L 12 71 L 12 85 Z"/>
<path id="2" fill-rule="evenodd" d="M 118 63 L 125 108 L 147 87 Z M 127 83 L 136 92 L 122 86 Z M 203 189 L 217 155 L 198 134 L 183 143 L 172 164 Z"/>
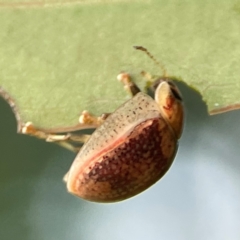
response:
<path id="1" fill-rule="evenodd" d="M 240 107 L 240 4 L 235 0 L 0 1 L 0 85 L 23 122 L 72 126 L 83 110 L 111 112 L 130 96 L 121 71 L 170 76 L 209 112 Z M 183 96 L 184 97 L 184 96 Z"/>

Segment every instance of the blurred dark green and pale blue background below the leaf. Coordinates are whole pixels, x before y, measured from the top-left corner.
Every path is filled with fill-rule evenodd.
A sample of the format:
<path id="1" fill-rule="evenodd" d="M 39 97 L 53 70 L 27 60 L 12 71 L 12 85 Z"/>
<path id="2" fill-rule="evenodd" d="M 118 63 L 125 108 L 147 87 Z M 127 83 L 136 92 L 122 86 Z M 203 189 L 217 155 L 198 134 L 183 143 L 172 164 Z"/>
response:
<path id="1" fill-rule="evenodd" d="M 96 204 L 62 182 L 75 154 L 16 134 L 0 99 L 1 240 L 240 239 L 240 111 L 208 116 L 180 84 L 186 125 L 173 166 L 144 193 Z"/>

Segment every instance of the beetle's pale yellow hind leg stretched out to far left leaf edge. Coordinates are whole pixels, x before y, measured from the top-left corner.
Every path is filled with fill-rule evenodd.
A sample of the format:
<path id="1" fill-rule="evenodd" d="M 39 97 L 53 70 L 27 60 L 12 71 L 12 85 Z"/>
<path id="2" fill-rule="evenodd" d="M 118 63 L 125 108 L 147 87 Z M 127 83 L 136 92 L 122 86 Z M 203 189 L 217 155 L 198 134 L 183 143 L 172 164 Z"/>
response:
<path id="1" fill-rule="evenodd" d="M 45 132 L 41 129 L 36 128 L 31 122 L 27 122 L 22 127 L 22 133 L 44 139 L 47 142 L 55 142 L 74 152 L 78 152 L 80 149 L 76 146 L 77 144 L 85 143 L 90 137 L 90 135 L 87 134 L 54 134 Z"/>

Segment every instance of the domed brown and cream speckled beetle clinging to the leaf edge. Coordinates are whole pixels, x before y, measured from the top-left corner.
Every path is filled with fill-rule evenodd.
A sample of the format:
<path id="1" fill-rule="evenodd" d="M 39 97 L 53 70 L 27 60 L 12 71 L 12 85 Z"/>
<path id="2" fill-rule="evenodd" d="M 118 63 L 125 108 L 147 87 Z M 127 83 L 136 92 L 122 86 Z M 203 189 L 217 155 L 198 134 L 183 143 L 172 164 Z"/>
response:
<path id="1" fill-rule="evenodd" d="M 154 59 L 147 49 L 136 49 Z M 84 111 L 80 116 L 81 124 L 99 126 L 85 138 L 64 180 L 70 193 L 85 200 L 117 202 L 139 194 L 163 177 L 177 152 L 184 108 L 172 79 L 164 74 L 150 84 L 154 99 L 141 92 L 129 74 L 121 73 L 118 79 L 131 99 L 111 114 L 97 118 Z M 29 129 L 31 124 L 25 133 Z M 54 141 L 53 135 L 48 139 Z"/>

